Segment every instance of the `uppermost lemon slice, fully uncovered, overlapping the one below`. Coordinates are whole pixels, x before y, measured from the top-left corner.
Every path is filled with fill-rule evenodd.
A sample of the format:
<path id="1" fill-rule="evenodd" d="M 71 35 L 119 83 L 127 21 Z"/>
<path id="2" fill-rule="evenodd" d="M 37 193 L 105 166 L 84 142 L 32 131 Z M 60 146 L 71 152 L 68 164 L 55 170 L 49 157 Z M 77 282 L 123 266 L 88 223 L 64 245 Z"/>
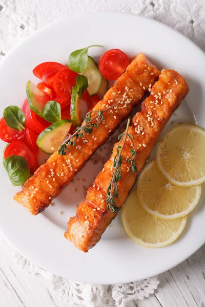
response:
<path id="1" fill-rule="evenodd" d="M 156 162 L 167 179 L 191 186 L 205 181 L 205 131 L 178 125 L 168 131 L 156 148 Z"/>

